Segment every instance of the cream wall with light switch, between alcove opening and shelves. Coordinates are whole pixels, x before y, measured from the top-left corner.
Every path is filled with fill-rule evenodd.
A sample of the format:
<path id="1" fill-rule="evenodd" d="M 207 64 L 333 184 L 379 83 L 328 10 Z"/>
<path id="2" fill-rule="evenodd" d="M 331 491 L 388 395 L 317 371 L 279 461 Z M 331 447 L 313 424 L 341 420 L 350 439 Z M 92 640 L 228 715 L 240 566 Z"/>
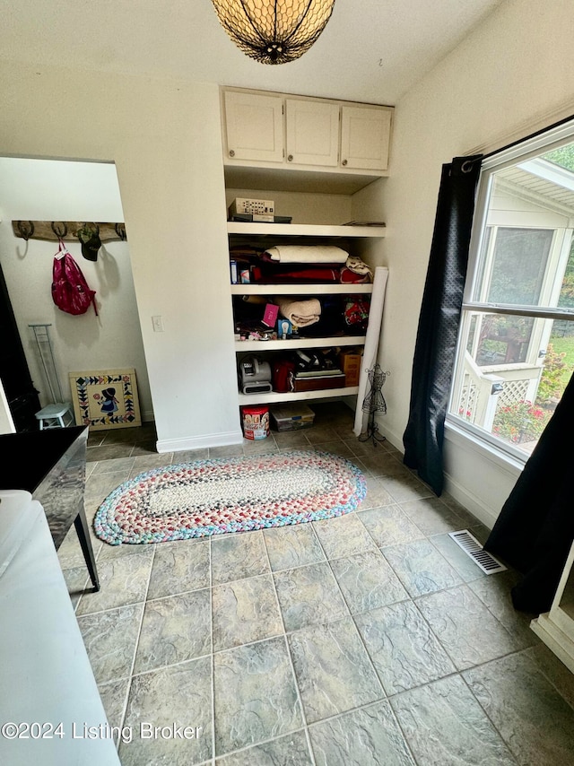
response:
<path id="1" fill-rule="evenodd" d="M 158 448 L 239 441 L 217 87 L 4 63 L 0 103 L 0 155 L 116 162 Z"/>

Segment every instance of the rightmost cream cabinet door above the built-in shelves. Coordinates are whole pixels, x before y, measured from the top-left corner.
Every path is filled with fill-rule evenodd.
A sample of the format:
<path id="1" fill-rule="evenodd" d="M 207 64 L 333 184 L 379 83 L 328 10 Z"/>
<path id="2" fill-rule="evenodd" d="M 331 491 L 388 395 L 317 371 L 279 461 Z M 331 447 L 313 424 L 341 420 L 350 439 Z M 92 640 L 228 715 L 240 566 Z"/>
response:
<path id="1" fill-rule="evenodd" d="M 341 164 L 344 168 L 387 170 L 391 109 L 341 108 Z"/>

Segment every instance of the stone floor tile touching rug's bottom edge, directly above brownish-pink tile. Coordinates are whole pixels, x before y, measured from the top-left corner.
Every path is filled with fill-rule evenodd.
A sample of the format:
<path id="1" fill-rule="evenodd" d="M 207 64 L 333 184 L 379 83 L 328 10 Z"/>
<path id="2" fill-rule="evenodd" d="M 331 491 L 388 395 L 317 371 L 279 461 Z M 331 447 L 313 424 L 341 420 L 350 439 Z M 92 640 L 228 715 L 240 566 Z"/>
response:
<path id="1" fill-rule="evenodd" d="M 212 583 L 255 577 L 270 571 L 263 533 L 240 532 L 212 537 Z"/>

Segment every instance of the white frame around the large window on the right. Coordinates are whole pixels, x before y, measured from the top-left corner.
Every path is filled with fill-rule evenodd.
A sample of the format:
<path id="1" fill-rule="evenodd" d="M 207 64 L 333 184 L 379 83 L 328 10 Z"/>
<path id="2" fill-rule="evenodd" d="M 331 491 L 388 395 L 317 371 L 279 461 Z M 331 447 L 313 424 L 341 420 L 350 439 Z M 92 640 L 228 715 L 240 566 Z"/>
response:
<path id="1" fill-rule="evenodd" d="M 453 405 L 453 396 L 457 383 L 457 370 L 463 363 L 465 355 L 465 314 L 467 311 L 482 310 L 484 313 L 496 313 L 520 315 L 534 318 L 569 319 L 573 320 L 574 309 L 533 309 L 531 306 L 515 306 L 506 304 L 479 303 L 473 300 L 476 285 L 480 280 L 480 255 L 483 245 L 483 234 L 487 226 L 489 203 L 491 199 L 491 185 L 494 173 L 517 164 L 517 160 L 526 162 L 536 160 L 543 153 L 551 152 L 565 144 L 574 143 L 574 119 L 562 123 L 559 126 L 549 128 L 527 138 L 524 141 L 512 144 L 507 149 L 492 153 L 483 160 L 481 174 L 478 181 L 476 202 L 474 206 L 474 221 L 471 234 L 468 268 L 466 273 L 465 291 L 461 314 L 461 324 L 457 341 L 457 356 L 453 370 L 453 382 L 448 403 L 448 413 L 445 426 L 447 430 L 456 433 L 459 438 L 469 440 L 477 448 L 483 448 L 494 457 L 496 462 L 506 466 L 524 466 L 528 456 L 526 453 L 513 445 L 498 439 L 488 431 L 484 431 L 473 423 L 465 421 L 450 413 Z M 559 171 L 560 172 L 560 171 Z M 544 228 L 544 227 L 534 227 Z"/>

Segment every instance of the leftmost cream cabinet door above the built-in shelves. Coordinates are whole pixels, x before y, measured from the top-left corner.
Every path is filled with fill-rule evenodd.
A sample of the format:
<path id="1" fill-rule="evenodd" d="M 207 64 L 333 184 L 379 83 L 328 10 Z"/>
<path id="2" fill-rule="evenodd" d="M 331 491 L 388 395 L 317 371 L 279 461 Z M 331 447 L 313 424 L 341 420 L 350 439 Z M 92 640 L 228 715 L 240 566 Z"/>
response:
<path id="1" fill-rule="evenodd" d="M 225 93 L 227 156 L 283 162 L 283 99 L 256 93 Z"/>

